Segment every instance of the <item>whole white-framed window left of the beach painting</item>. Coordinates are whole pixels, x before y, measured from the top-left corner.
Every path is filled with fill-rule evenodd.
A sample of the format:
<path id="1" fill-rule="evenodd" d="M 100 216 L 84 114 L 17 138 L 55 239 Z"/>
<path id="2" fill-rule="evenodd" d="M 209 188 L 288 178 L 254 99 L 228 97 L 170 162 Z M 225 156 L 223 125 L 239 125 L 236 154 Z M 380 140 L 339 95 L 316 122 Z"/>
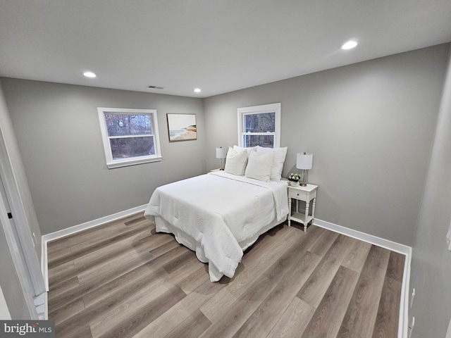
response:
<path id="1" fill-rule="evenodd" d="M 106 166 L 161 161 L 156 110 L 97 108 Z"/>

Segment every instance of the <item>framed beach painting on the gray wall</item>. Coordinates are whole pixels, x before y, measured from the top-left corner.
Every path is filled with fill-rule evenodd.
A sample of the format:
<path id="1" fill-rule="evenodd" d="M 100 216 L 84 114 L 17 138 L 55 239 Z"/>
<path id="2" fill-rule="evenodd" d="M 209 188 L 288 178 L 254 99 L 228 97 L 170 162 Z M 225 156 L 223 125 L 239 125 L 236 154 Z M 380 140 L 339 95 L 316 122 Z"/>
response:
<path id="1" fill-rule="evenodd" d="M 169 142 L 197 139 L 195 114 L 166 114 Z"/>

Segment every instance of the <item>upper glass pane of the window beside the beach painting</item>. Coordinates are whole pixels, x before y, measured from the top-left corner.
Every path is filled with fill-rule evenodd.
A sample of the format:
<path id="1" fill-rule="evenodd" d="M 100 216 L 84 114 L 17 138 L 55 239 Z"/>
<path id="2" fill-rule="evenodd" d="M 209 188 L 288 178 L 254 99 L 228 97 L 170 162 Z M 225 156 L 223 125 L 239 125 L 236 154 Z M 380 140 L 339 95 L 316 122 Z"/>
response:
<path id="1" fill-rule="evenodd" d="M 109 136 L 152 134 L 150 115 L 105 114 Z"/>

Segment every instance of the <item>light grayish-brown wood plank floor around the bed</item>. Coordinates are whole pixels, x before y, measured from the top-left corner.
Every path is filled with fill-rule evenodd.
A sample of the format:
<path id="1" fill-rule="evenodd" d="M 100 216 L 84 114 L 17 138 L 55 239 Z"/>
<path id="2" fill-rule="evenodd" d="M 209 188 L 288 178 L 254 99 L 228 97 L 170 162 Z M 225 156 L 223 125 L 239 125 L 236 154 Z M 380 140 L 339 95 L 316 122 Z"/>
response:
<path id="1" fill-rule="evenodd" d="M 397 337 L 404 256 L 311 226 L 278 226 L 235 277 L 142 215 L 48 244 L 56 337 Z"/>

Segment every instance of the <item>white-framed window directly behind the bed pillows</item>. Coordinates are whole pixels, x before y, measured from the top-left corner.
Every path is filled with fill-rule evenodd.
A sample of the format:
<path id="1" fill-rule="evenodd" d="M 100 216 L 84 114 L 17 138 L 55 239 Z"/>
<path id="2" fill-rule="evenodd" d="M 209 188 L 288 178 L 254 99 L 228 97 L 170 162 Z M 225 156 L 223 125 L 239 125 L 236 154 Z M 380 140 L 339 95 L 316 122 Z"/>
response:
<path id="1" fill-rule="evenodd" d="M 238 108 L 238 145 L 280 146 L 280 103 Z"/>

